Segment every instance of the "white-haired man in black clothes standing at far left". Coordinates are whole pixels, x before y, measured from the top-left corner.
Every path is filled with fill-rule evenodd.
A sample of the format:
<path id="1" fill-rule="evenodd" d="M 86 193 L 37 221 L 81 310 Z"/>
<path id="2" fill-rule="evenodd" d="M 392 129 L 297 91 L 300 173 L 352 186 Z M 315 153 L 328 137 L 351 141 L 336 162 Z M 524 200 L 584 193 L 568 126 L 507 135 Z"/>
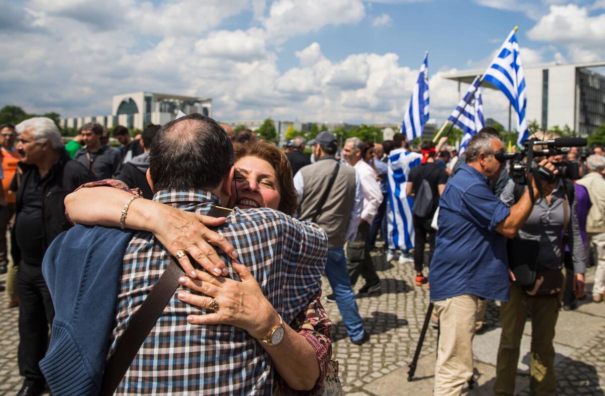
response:
<path id="1" fill-rule="evenodd" d="M 57 235 L 71 227 L 65 218 L 65 196 L 95 180 L 84 165 L 64 149 L 53 120 L 35 117 L 16 126 L 16 150 L 21 155 L 17 191 L 15 238 L 19 261 L 19 374 L 25 377 L 18 395 L 38 395 L 45 380 L 38 363 L 46 353 L 54 309 L 42 277 L 42 258 Z"/>

